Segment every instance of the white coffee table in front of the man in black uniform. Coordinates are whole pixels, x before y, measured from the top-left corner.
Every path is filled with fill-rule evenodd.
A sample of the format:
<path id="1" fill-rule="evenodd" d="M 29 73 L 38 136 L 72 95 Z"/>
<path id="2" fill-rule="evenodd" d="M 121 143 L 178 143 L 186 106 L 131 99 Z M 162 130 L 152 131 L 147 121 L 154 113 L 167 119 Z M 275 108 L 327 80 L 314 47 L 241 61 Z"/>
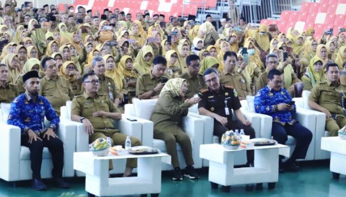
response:
<path id="1" fill-rule="evenodd" d="M 280 149 L 280 150 L 279 150 Z M 234 168 L 234 155 L 237 151 L 255 150 L 254 167 Z M 226 186 L 228 192 L 231 185 L 268 183 L 269 189 L 275 188 L 279 179 L 279 154 L 289 157 L 290 148 L 276 144 L 270 146 L 255 146 L 252 149 L 226 149 L 220 144 L 202 144 L 200 157 L 209 160 L 209 181 L 212 188 L 218 184 Z"/>

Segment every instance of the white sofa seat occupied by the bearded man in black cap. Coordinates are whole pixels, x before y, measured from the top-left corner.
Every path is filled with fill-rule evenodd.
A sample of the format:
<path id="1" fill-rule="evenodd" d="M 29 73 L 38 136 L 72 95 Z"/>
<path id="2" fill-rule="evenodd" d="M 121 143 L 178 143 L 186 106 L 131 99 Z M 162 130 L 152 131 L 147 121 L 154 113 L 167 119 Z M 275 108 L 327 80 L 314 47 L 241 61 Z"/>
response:
<path id="1" fill-rule="evenodd" d="M 0 178 L 5 181 L 31 180 L 32 170 L 30 150 L 20 145 L 21 131 L 19 127 L 7 125 L 10 104 L 1 103 L 0 109 Z M 49 121 L 44 122 L 49 127 Z M 59 139 L 64 143 L 64 169 L 63 177 L 74 176 L 73 153 L 76 147 L 76 126 L 72 121 L 62 121 L 57 130 Z M 51 178 L 53 164 L 48 148 L 43 148 L 41 177 Z"/>

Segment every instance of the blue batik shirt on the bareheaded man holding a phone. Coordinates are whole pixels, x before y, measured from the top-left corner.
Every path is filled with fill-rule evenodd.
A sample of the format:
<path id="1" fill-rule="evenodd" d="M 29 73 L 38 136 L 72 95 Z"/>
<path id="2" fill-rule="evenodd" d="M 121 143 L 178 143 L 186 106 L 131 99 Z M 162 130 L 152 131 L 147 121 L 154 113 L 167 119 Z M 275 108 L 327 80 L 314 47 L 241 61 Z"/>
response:
<path id="1" fill-rule="evenodd" d="M 266 114 L 273 118 L 273 122 L 280 125 L 293 125 L 296 120 L 292 118 L 292 114 L 296 113 L 296 105 L 293 104 L 291 111 L 278 111 L 277 105 L 280 103 L 288 104 L 292 100 L 290 93 L 285 88 L 279 91 L 270 89 L 268 86 L 259 90 L 255 96 L 254 104 L 256 113 Z"/>

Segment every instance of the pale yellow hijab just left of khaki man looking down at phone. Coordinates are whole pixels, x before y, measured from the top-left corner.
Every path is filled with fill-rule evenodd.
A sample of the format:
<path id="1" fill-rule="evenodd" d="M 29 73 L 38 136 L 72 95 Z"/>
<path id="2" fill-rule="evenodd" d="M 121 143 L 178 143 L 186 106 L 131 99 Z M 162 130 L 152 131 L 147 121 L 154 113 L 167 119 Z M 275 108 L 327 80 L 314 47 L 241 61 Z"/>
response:
<path id="1" fill-rule="evenodd" d="M 136 59 L 134 61 L 133 67 L 137 70 L 137 72 L 140 75 L 148 73 L 151 70 L 151 65 L 153 63 L 153 58 L 151 59 L 150 62 L 145 62 L 144 61 L 144 57 L 148 53 L 151 53 L 151 55 L 154 58 L 153 48 L 151 48 L 151 46 L 149 46 L 149 45 L 143 46 L 139 50 L 139 53 L 137 54 L 137 57 L 136 57 Z"/>

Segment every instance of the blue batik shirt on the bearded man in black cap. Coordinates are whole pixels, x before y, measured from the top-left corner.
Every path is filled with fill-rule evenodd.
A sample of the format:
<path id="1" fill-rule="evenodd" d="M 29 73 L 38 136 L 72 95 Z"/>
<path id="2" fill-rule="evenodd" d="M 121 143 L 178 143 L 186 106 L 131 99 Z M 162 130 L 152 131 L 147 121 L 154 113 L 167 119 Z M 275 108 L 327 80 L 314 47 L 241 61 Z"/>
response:
<path id="1" fill-rule="evenodd" d="M 50 121 L 50 127 L 55 130 L 59 125 L 59 116 L 49 101 L 39 95 L 37 101 L 26 93 L 13 99 L 8 115 L 7 124 L 14 125 L 21 129 L 22 134 L 26 134 L 29 129 L 36 133 L 46 131 L 44 127 L 44 117 Z"/>

